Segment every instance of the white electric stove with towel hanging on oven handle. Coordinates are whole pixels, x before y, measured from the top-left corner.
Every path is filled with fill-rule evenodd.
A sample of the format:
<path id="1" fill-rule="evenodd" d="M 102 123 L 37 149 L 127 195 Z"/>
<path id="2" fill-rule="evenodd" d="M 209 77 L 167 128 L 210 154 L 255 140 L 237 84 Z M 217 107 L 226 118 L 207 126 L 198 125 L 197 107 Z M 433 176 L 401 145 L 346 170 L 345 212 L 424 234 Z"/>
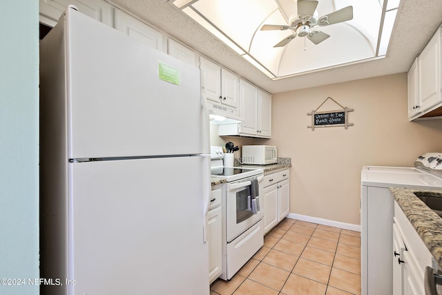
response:
<path id="1" fill-rule="evenodd" d="M 211 146 L 211 176 L 226 180 L 222 196 L 222 274 L 230 280 L 264 245 L 264 170 L 225 167 L 221 146 Z M 252 189 L 253 187 L 253 189 Z M 256 196 L 252 196 L 255 191 Z M 259 205 L 260 204 L 260 205 Z"/>

